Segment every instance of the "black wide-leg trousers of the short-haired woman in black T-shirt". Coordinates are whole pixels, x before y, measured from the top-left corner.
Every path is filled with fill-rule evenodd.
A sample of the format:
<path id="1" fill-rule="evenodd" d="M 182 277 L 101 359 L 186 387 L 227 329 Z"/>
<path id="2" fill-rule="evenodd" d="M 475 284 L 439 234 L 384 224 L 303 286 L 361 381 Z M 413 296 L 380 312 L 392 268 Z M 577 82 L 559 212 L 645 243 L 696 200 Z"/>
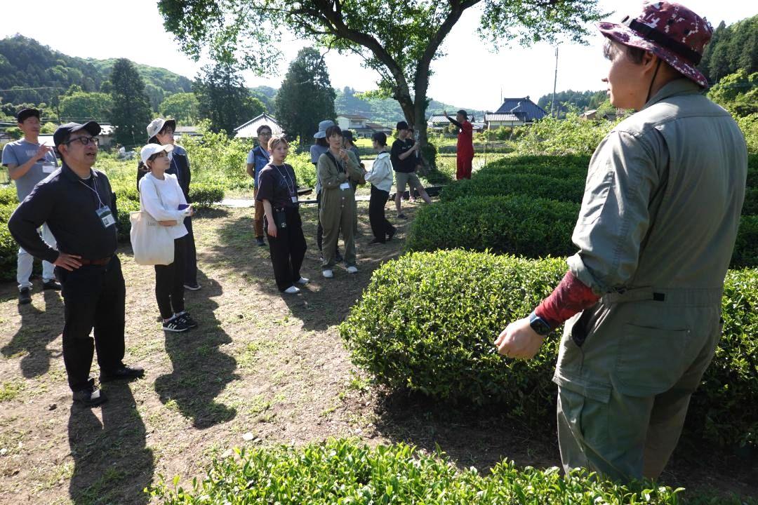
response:
<path id="1" fill-rule="evenodd" d="M 300 267 L 305 257 L 305 237 L 302 235 L 302 221 L 296 208 L 287 208 L 287 227 L 277 226 L 277 236 L 268 235 L 268 219 L 263 218 L 263 226 L 271 251 L 274 279 L 279 291 L 284 291 L 300 279 Z"/>

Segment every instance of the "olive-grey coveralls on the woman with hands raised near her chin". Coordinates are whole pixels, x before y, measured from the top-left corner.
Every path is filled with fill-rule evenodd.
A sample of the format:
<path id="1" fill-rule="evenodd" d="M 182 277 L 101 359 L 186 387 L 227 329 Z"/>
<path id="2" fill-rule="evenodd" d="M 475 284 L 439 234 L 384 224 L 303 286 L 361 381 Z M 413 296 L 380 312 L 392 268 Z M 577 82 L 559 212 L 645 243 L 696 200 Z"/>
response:
<path id="1" fill-rule="evenodd" d="M 318 157 L 316 174 L 321 182 L 321 211 L 319 217 L 324 228 L 324 243 L 321 254 L 324 262 L 323 270 L 334 268 L 334 251 L 342 229 L 345 242 L 345 263 L 348 267 L 356 265 L 356 238 L 354 231 L 358 217 L 356 216 L 356 193 L 349 184 L 349 179 L 357 183 L 365 182 L 363 170 L 352 151 L 347 151 L 349 161 L 345 164 L 337 158 L 340 164 L 346 165 L 342 170 L 337 167 L 327 154 Z"/>

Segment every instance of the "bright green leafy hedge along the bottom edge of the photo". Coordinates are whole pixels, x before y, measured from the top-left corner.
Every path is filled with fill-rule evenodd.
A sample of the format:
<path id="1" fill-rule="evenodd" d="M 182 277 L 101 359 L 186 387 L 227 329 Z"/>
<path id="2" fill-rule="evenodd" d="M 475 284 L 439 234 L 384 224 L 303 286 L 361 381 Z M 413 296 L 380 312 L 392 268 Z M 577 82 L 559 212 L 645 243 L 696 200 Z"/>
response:
<path id="1" fill-rule="evenodd" d="M 650 483 L 620 485 L 598 482 L 586 472 L 566 477 L 503 461 L 486 475 L 463 470 L 445 454 L 426 455 L 406 444 L 367 447 L 358 441 L 329 440 L 305 447 L 262 447 L 236 450 L 233 457 L 214 458 L 208 475 L 192 488 L 158 482 L 150 497 L 165 505 L 279 503 L 281 505 L 622 505 L 682 503 L 682 488 Z M 687 503 L 755 505 L 738 497 L 686 497 Z"/>

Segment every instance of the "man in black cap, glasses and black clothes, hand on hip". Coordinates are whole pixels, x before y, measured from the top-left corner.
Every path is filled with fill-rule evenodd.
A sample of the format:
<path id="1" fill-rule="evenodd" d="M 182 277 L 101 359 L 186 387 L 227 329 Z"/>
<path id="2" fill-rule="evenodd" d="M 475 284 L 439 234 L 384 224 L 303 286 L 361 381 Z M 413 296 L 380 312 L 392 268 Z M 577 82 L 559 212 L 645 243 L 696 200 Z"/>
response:
<path id="1" fill-rule="evenodd" d="M 18 206 L 8 229 L 34 257 L 55 264 L 63 286 L 65 323 L 63 359 L 74 401 L 102 404 L 105 394 L 89 379 L 97 348 L 100 382 L 136 379 L 138 367 L 125 366 L 124 299 L 126 288 L 116 255 L 116 198 L 105 173 L 92 170 L 97 160 L 100 125 L 67 123 L 53 141 L 63 163 Z M 48 223 L 58 251 L 36 232 Z M 94 341 L 89 336 L 95 329 Z"/>

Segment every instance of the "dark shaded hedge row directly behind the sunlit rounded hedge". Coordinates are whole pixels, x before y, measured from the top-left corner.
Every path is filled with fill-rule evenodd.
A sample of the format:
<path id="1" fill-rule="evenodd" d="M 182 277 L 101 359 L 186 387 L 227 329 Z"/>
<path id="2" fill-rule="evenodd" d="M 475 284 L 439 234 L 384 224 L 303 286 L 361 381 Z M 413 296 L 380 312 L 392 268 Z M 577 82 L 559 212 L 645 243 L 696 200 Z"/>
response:
<path id="1" fill-rule="evenodd" d="M 409 251 L 466 248 L 568 256 L 579 205 L 522 195 L 482 196 L 421 207 L 411 225 Z"/>

